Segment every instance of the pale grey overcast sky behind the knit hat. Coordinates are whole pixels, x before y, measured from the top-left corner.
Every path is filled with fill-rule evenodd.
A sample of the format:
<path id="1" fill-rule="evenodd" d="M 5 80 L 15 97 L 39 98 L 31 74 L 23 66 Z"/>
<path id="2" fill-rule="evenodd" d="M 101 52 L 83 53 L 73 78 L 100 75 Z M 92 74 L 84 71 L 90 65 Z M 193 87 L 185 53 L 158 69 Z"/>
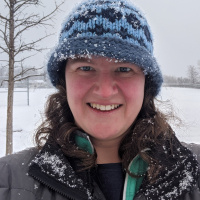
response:
<path id="1" fill-rule="evenodd" d="M 189 65 L 200 60 L 200 0 L 131 0 L 145 14 L 154 36 L 154 55 L 165 75 L 187 76 Z M 53 0 L 43 0 L 51 9 Z M 57 14 L 54 32 L 45 43 L 53 47 L 58 40 L 61 23 L 80 0 L 67 0 L 63 12 Z M 38 34 L 39 30 L 35 32 Z M 52 30 L 49 30 L 52 31 Z M 34 34 L 34 33 L 33 33 Z M 30 34 L 29 37 L 31 37 Z M 45 45 L 45 44 L 44 44 Z M 31 64 L 41 66 L 46 52 Z"/>

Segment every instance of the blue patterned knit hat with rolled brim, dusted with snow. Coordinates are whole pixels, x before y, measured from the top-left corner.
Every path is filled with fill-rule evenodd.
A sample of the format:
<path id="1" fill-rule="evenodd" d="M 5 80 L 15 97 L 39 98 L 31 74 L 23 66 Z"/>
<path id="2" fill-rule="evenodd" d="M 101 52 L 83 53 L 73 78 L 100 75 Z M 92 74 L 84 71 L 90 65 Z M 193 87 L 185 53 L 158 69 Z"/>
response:
<path id="1" fill-rule="evenodd" d="M 104 56 L 141 67 L 156 96 L 163 79 L 153 56 L 149 25 L 134 5 L 126 0 L 87 0 L 63 23 L 59 43 L 48 61 L 54 86 L 68 58 Z"/>

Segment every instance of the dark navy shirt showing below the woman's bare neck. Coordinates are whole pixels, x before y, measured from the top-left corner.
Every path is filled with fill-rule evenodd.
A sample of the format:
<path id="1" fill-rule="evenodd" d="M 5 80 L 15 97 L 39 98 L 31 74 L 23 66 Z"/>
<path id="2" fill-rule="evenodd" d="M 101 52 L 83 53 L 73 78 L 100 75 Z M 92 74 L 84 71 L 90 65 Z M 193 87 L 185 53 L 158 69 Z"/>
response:
<path id="1" fill-rule="evenodd" d="M 121 163 L 99 164 L 96 180 L 107 200 L 122 199 L 125 173 Z"/>

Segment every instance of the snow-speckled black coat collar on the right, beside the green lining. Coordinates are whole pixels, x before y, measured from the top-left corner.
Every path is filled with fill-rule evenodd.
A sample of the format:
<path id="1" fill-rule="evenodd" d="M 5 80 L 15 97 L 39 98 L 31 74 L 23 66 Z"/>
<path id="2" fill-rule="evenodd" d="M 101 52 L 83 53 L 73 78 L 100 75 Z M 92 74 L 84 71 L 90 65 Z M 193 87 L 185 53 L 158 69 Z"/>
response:
<path id="1" fill-rule="evenodd" d="M 157 147 L 154 154 L 160 158 L 161 162 L 165 163 L 165 167 L 153 184 L 150 184 L 145 178 L 139 194 L 143 194 L 148 200 L 184 199 L 185 194 L 191 192 L 197 184 L 199 164 L 196 157 L 189 149 L 182 146 L 175 136 L 171 143 L 166 141 L 164 145 Z"/>

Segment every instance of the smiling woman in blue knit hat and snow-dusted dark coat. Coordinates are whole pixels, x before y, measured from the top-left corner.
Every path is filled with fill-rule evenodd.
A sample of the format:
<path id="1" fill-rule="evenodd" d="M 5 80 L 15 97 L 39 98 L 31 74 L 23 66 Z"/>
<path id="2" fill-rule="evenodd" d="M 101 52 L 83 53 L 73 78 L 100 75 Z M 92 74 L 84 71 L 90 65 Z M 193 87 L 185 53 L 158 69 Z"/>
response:
<path id="1" fill-rule="evenodd" d="M 2 158 L 0 199 L 197 200 L 199 167 L 154 104 L 162 75 L 146 19 L 89 0 L 63 24 L 38 148 Z"/>

